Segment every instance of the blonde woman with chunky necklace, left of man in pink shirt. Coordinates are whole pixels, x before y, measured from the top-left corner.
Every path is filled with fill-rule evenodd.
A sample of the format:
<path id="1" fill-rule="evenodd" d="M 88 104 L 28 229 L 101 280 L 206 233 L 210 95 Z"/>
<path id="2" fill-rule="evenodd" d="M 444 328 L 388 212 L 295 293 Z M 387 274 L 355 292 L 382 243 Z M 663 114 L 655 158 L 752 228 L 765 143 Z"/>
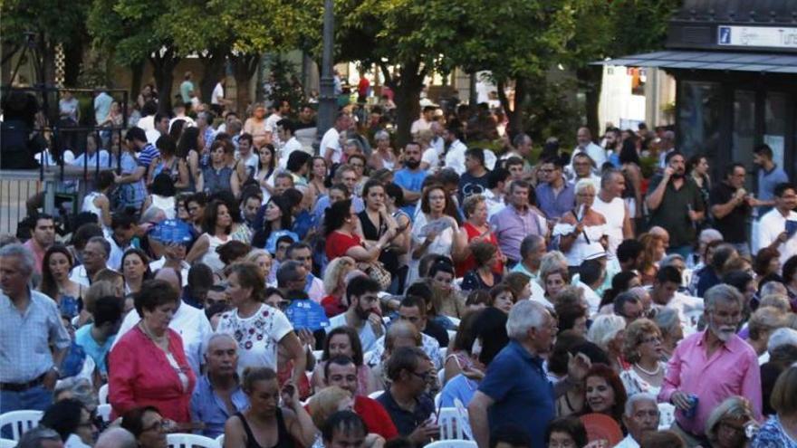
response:
<path id="1" fill-rule="evenodd" d="M 649 319 L 637 319 L 626 328 L 622 353 L 631 364 L 619 374 L 629 396 L 640 392 L 658 396 L 667 364 L 661 361 L 664 354 L 661 331 Z"/>

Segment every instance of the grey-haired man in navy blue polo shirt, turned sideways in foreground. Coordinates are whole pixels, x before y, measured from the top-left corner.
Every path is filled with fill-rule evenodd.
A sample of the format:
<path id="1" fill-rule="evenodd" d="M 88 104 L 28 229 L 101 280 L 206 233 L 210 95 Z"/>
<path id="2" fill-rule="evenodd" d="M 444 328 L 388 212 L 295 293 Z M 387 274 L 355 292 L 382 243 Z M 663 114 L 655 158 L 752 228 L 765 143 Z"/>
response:
<path id="1" fill-rule="evenodd" d="M 590 360 L 572 357 L 568 376 L 552 385 L 543 369 L 558 331 L 556 319 L 543 305 L 521 300 L 506 321 L 509 344 L 487 367 L 485 379 L 467 406 L 479 448 L 490 446 L 492 429 L 514 424 L 532 436 L 532 446 L 545 445 L 545 427 L 556 416 L 556 397 L 581 383 Z"/>

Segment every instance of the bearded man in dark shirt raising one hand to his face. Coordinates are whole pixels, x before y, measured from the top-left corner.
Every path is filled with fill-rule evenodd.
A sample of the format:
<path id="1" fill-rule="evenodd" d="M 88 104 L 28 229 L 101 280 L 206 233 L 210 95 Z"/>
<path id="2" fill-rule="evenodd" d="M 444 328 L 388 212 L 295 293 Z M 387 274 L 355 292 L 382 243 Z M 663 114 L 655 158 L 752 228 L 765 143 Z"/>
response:
<path id="1" fill-rule="evenodd" d="M 670 234 L 669 253 L 686 258 L 697 238 L 696 223 L 704 218 L 703 199 L 695 181 L 685 176 L 686 159 L 677 151 L 667 154 L 664 174 L 648 186 L 645 203 L 650 211 L 650 225 L 658 225 Z"/>

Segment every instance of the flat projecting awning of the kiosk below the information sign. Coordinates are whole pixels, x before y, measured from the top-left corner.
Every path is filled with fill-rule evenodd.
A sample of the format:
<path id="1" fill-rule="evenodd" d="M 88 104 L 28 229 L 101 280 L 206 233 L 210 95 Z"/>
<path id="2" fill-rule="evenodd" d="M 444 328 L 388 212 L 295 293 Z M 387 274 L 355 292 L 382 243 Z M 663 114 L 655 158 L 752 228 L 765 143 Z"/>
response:
<path id="1" fill-rule="evenodd" d="M 797 73 L 797 56 L 750 52 L 665 51 L 633 54 L 617 59 L 592 62 L 592 65 Z"/>

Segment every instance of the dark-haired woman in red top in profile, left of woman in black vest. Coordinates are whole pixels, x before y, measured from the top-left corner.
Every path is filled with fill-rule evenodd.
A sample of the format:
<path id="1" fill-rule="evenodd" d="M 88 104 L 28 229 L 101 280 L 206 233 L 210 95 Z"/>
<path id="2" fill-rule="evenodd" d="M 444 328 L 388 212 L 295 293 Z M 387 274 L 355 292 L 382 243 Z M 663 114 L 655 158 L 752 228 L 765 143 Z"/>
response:
<path id="1" fill-rule="evenodd" d="M 350 256 L 355 262 L 376 262 L 382 249 L 388 245 L 396 229 L 390 227 L 379 237 L 377 243 L 367 243 L 360 238 L 360 218 L 346 199 L 332 204 L 324 216 L 326 229 L 326 252 L 330 262 L 343 255 Z"/>

